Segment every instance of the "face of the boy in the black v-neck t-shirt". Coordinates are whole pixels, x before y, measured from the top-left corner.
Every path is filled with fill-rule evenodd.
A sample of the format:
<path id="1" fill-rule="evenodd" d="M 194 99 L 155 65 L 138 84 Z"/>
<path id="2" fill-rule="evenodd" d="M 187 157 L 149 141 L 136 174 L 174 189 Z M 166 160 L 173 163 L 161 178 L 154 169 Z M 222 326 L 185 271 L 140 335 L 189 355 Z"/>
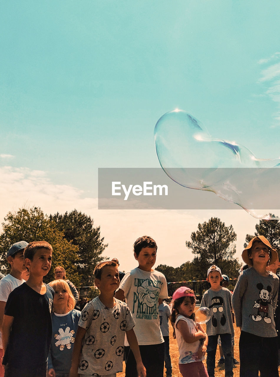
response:
<path id="1" fill-rule="evenodd" d="M 29 274 L 34 276 L 46 276 L 52 265 L 52 252 L 48 249 L 42 248 L 35 251 L 33 261 L 25 259 L 26 267 L 29 269 Z"/>

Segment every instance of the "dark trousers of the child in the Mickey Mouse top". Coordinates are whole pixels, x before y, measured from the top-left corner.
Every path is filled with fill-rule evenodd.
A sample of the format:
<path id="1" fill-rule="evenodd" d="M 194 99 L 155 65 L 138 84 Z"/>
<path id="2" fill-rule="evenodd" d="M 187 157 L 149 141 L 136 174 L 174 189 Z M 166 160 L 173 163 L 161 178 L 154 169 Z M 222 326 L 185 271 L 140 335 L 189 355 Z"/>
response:
<path id="1" fill-rule="evenodd" d="M 240 377 L 278 377 L 277 336 L 263 338 L 241 331 L 239 339 Z"/>

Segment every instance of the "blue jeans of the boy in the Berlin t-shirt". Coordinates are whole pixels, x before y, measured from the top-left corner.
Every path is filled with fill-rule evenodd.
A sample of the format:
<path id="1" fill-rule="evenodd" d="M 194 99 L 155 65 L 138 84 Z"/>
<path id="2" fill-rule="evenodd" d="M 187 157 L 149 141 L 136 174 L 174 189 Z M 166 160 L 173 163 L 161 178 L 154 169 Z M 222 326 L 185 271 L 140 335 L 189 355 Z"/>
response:
<path id="1" fill-rule="evenodd" d="M 218 345 L 218 336 L 220 335 L 222 350 L 225 358 L 225 377 L 233 377 L 233 357 L 231 352 L 231 334 L 217 334 L 208 336 L 208 346 L 207 346 L 207 371 L 209 377 L 214 377 L 215 375 L 215 356 Z"/>

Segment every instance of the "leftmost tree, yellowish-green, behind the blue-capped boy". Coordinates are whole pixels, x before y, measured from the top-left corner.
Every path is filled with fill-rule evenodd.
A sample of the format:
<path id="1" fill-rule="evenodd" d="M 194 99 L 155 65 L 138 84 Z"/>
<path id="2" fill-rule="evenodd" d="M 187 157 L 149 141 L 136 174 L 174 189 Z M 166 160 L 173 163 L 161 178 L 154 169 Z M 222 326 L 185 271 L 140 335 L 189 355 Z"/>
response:
<path id="1" fill-rule="evenodd" d="M 64 239 L 64 234 L 58 230 L 56 224 L 44 215 L 39 207 L 20 208 L 17 212 L 8 212 L 2 223 L 3 232 L 0 234 L 0 261 L 1 274 L 9 271 L 6 254 L 12 244 L 18 241 L 47 241 L 52 245 L 52 267 L 45 282 L 54 280 L 54 268 L 63 264 L 67 276 L 75 285 L 80 285 L 78 271 L 78 247 Z"/>

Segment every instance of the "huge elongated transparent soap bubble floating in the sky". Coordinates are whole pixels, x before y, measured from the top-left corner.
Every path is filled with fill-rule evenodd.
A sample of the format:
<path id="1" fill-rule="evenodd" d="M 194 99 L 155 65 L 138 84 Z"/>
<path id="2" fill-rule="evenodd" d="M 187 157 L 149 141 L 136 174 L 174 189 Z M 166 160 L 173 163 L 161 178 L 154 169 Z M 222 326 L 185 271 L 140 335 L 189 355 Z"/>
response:
<path id="1" fill-rule="evenodd" d="M 258 159 L 240 144 L 212 138 L 184 110 L 165 113 L 155 125 L 154 137 L 160 165 L 173 181 L 190 189 L 212 191 L 256 218 L 270 218 L 255 209 L 271 208 L 258 207 L 263 203 L 258 196 L 271 197 L 262 184 L 273 184 L 270 168 L 279 168 L 280 158 Z M 279 175 L 280 170 L 273 169 L 274 172 Z"/>

